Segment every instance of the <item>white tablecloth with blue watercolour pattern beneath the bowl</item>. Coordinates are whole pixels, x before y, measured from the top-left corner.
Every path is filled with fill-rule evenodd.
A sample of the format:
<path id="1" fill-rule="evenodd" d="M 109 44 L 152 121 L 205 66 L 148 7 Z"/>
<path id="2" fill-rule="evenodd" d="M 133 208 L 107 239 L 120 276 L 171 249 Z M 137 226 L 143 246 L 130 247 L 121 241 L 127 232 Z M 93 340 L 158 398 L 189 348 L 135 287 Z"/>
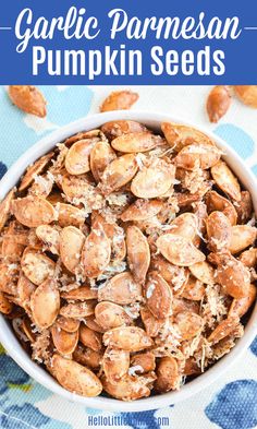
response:
<path id="1" fill-rule="evenodd" d="M 34 118 L 13 107 L 4 87 L 0 87 L 0 177 L 24 151 L 45 134 L 79 117 L 86 116 L 94 107 L 94 97 L 99 98 L 103 90 L 85 86 L 46 86 L 41 87 L 48 100 L 47 119 Z M 94 91 L 94 93 L 93 93 Z M 110 90 L 108 90 L 109 92 Z M 140 108 L 162 106 L 169 111 L 173 99 L 181 99 L 176 112 L 188 110 L 191 100 L 194 106 L 203 87 L 161 88 L 142 91 Z M 178 95 L 182 94 L 181 97 Z M 94 97 L 93 97 L 94 96 Z M 145 97 L 145 102 L 144 102 Z M 151 98 L 149 98 L 151 97 Z M 188 98 L 187 98 L 188 97 Z M 187 103 L 186 103 L 187 100 Z M 199 102 L 200 103 L 200 102 Z M 154 109 L 152 107 L 152 109 Z M 157 108 L 157 107 L 156 107 Z M 199 104 L 199 111 L 203 107 Z M 227 140 L 231 146 L 246 160 L 257 174 L 257 130 L 253 131 L 253 110 L 248 114 L 243 106 L 235 109 L 222 120 L 213 131 Z M 195 121 L 208 127 L 201 114 L 197 112 Z M 179 115 L 178 114 L 178 115 Z M 198 115 L 198 116 L 197 116 Z M 238 118 L 246 118 L 244 121 Z M 247 118 L 249 117 L 248 123 Z M 227 119 L 227 118 L 225 118 Z M 238 124 L 238 122 L 241 124 Z M 242 126 L 243 123 L 243 126 Z M 256 116 L 255 116 L 256 123 Z M 246 131 L 250 129 L 250 135 Z M 243 358 L 229 368 L 222 378 L 196 396 L 167 408 L 143 412 L 123 413 L 122 428 L 133 429 L 249 429 L 257 427 L 257 338 Z M 101 413 L 83 405 L 70 403 L 36 383 L 17 365 L 4 354 L 0 346 L 0 428 L 1 429 L 86 429 L 93 418 L 98 420 L 91 427 L 111 427 L 108 420 L 100 417 L 113 417 L 114 413 Z M 118 415 L 117 415 L 118 416 Z"/>

